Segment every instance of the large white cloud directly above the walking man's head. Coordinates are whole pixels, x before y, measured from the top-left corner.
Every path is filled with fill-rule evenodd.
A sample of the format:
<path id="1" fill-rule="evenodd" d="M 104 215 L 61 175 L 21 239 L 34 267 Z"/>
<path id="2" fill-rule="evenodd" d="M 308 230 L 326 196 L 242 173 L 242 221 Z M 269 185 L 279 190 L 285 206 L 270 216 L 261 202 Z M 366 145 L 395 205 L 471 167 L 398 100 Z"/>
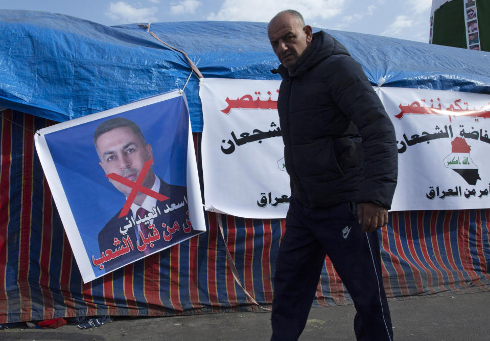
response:
<path id="1" fill-rule="evenodd" d="M 306 22 L 327 19 L 342 12 L 345 0 L 248 0 L 237 2 L 225 0 L 217 13 L 211 13 L 207 20 L 263 21 L 268 22 L 277 12 L 294 9 L 301 13 Z"/>

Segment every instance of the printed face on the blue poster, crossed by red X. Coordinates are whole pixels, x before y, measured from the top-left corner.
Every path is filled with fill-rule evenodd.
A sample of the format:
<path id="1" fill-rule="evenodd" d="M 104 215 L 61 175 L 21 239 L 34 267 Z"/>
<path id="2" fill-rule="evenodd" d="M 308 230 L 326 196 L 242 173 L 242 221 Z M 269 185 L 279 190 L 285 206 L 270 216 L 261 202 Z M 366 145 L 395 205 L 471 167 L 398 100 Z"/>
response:
<path id="1" fill-rule="evenodd" d="M 116 173 L 131 181 L 136 181 L 146 161 L 153 158 L 150 144 L 146 146 L 129 127 L 109 130 L 97 139 L 97 153 L 100 165 L 106 174 Z M 126 197 L 131 188 L 109 179 L 112 185 Z M 143 181 L 143 186 L 151 188 L 154 181 L 153 170 L 150 168 Z"/>

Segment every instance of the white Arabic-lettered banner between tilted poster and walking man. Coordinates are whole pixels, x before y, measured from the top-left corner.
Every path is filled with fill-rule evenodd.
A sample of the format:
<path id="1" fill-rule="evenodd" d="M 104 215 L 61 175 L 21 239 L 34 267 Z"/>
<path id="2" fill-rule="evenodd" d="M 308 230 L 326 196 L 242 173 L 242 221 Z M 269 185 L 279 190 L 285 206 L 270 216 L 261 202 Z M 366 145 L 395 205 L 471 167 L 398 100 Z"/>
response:
<path id="1" fill-rule="evenodd" d="M 280 81 L 204 79 L 202 169 L 209 211 L 284 218 L 289 175 L 277 115 Z"/>

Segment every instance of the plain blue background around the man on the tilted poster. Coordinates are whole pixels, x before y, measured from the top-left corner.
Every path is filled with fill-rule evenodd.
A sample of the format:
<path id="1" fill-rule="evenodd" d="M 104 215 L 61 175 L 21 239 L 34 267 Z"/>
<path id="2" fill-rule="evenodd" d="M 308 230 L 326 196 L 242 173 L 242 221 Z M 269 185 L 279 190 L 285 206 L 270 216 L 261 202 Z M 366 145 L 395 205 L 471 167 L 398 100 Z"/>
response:
<path id="1" fill-rule="evenodd" d="M 135 122 L 153 150 L 153 171 L 171 185 L 186 186 L 189 113 L 183 97 L 135 108 L 45 135 L 88 257 L 100 258 L 98 234 L 125 203 L 99 165 L 94 131 L 115 117 Z M 96 276 L 105 272 L 93 266 Z"/>

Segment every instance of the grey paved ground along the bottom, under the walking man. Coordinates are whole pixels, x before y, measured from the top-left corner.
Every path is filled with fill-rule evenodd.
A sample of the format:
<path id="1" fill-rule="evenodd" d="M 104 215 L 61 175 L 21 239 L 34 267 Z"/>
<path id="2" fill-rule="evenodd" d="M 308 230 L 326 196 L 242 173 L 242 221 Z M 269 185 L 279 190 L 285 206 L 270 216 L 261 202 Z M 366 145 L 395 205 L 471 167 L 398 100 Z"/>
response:
<path id="1" fill-rule="evenodd" d="M 490 292 L 389 302 L 396 340 L 490 340 Z M 354 340 L 354 306 L 312 308 L 305 340 Z M 268 340 L 270 313 L 120 318 L 80 330 L 11 328 L 2 340 Z M 26 327 L 27 328 L 27 327 Z"/>

